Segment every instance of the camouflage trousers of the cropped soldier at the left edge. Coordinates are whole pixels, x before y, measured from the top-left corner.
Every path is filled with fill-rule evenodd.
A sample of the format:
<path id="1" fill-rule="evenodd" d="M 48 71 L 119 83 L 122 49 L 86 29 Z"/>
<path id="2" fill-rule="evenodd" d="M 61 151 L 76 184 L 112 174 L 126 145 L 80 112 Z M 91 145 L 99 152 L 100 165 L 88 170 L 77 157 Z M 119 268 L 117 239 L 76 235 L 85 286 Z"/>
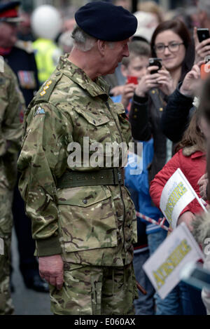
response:
<path id="1" fill-rule="evenodd" d="M 0 187 L 0 238 L 3 239 L 4 255 L 0 255 L 0 315 L 13 314 L 14 307 L 10 296 L 10 262 L 13 192 Z"/>

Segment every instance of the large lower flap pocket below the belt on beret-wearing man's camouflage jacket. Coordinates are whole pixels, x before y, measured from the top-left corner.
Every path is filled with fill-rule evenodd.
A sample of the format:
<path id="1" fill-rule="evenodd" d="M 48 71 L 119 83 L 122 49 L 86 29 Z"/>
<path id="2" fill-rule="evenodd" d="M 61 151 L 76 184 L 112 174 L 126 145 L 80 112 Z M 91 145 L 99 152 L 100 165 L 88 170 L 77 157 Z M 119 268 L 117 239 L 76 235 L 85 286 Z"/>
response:
<path id="1" fill-rule="evenodd" d="M 111 192 L 106 187 L 73 187 L 58 192 L 60 241 L 66 253 L 117 246 Z"/>

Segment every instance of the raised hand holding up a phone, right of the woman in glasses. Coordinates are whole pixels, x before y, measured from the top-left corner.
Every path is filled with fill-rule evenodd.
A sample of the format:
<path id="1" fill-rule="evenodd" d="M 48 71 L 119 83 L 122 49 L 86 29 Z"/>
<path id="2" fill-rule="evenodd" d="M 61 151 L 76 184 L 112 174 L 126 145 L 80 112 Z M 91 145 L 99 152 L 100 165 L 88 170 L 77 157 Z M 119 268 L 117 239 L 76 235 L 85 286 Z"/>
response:
<path id="1" fill-rule="evenodd" d="M 180 92 L 183 95 L 194 97 L 196 94 L 198 95 L 200 86 L 202 85 L 200 79 L 200 66 L 204 63 L 204 61 L 199 62 L 196 65 L 193 65 L 192 69 L 188 74 L 186 74 L 185 79 L 180 88 Z"/>

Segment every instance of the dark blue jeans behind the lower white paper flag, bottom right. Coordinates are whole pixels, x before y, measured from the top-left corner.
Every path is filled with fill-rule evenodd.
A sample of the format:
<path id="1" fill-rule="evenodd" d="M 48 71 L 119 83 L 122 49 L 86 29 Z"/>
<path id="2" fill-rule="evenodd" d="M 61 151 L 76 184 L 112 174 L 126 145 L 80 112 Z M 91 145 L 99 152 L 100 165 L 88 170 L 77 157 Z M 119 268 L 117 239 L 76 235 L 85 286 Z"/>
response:
<path id="1" fill-rule="evenodd" d="M 150 253 L 154 253 L 160 244 L 165 240 L 167 231 L 162 229 L 153 234 L 148 234 L 148 246 Z M 156 315 L 204 315 L 206 314 L 201 298 L 201 291 L 180 282 L 165 297 L 160 298 L 155 293 Z"/>

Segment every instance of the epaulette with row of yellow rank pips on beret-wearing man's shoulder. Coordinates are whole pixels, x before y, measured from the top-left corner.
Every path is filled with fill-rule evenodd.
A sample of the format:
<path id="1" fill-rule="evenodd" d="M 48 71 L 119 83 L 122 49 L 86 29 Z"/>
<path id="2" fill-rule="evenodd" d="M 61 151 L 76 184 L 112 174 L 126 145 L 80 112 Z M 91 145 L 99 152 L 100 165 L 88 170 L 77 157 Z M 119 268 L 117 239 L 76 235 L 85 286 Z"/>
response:
<path id="1" fill-rule="evenodd" d="M 37 102 L 48 102 L 50 95 L 55 88 L 57 82 L 62 78 L 61 72 L 56 72 L 52 76 L 50 76 L 50 79 L 45 81 L 43 83 L 42 87 L 38 90 L 38 93 L 36 93 L 36 96 L 34 98 L 35 103 Z"/>

